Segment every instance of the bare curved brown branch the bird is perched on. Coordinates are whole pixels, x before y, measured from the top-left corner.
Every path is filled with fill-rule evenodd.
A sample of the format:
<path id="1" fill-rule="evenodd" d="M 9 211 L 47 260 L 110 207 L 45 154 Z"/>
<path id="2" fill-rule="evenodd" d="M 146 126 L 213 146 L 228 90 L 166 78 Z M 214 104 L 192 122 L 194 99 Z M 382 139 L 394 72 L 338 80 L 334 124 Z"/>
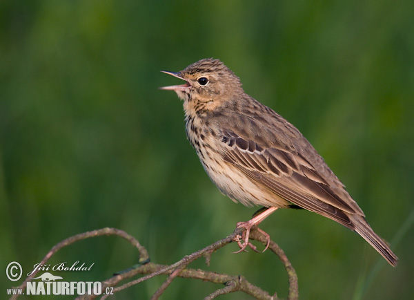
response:
<path id="1" fill-rule="evenodd" d="M 52 249 L 46 254 L 46 256 L 41 261 L 41 264 L 45 264 L 52 255 L 54 255 L 57 251 L 59 251 L 62 247 L 66 247 L 68 245 L 71 245 L 72 243 L 75 243 L 76 241 L 81 241 L 86 238 L 91 238 L 95 236 L 103 236 L 103 235 L 117 235 L 121 236 L 121 238 L 126 239 L 133 245 L 134 247 L 137 247 L 137 250 L 139 251 L 139 263 L 137 265 L 132 266 L 131 268 L 124 270 L 122 272 L 119 272 L 115 274 L 114 276 L 110 277 L 109 279 L 106 279 L 106 281 L 102 282 L 102 292 L 106 290 L 108 287 L 112 287 L 113 292 L 119 292 L 121 290 L 124 290 L 131 285 L 135 285 L 137 283 L 141 283 L 143 281 L 146 281 L 147 279 L 150 279 L 154 276 L 157 276 L 159 274 L 167 274 L 169 275 L 166 281 L 162 283 L 162 285 L 159 287 L 159 289 L 155 292 L 155 294 L 152 295 L 151 299 L 158 299 L 161 294 L 163 294 L 170 283 L 176 278 L 176 277 L 183 277 L 183 278 L 192 278 L 192 279 L 201 279 L 203 281 L 210 281 L 213 283 L 219 283 L 225 285 L 224 288 L 219 288 L 215 292 L 211 293 L 206 297 L 206 299 L 215 299 L 216 297 L 219 297 L 221 294 L 228 294 L 230 292 L 244 292 L 246 294 L 249 294 L 252 297 L 255 297 L 256 299 L 277 299 L 277 294 L 273 294 L 273 296 L 270 296 L 270 294 L 261 288 L 257 287 L 256 285 L 253 285 L 252 283 L 248 282 L 244 276 L 232 276 L 229 274 L 219 274 L 216 272 L 208 272 L 204 270 L 195 270 L 191 268 L 187 268 L 190 263 L 195 261 L 196 259 L 199 259 L 201 257 L 204 257 L 206 259 L 206 263 L 208 264 L 210 261 L 210 256 L 213 254 L 213 252 L 219 250 L 221 247 L 224 247 L 228 245 L 229 243 L 232 243 L 235 241 L 235 237 L 242 234 L 244 231 L 243 228 L 237 228 L 235 231 L 230 234 L 229 236 L 226 236 L 226 238 L 221 239 L 220 241 L 217 241 L 211 245 L 208 245 L 207 247 L 204 247 L 201 250 L 198 250 L 197 252 L 194 252 L 190 255 L 184 256 L 183 259 L 180 261 L 177 261 L 177 263 L 173 263 L 172 265 L 159 265 L 156 263 L 151 263 L 150 258 L 148 255 L 148 251 L 146 248 L 139 244 L 139 242 L 129 234 L 126 234 L 126 232 L 115 229 L 115 228 L 103 228 L 94 230 L 92 232 L 85 232 L 83 234 L 77 234 L 75 236 L 72 236 L 70 238 L 66 238 L 66 240 L 61 241 L 55 247 L 52 247 Z M 267 238 L 257 230 L 257 227 L 253 227 L 250 231 L 250 239 L 259 241 L 260 243 L 266 245 Z M 289 299 L 297 299 L 298 298 L 298 288 L 297 288 L 297 276 L 295 273 L 295 270 L 293 269 L 292 265 L 288 261 L 286 254 L 284 254 L 283 250 L 273 241 L 270 241 L 269 243 L 269 249 L 277 254 L 279 256 L 279 259 L 284 263 L 284 266 L 286 268 L 286 271 L 288 272 L 288 279 L 289 279 Z M 37 271 L 28 276 L 28 278 L 23 281 L 23 283 L 19 286 L 19 288 L 25 289 L 26 283 L 28 280 L 34 276 L 36 276 Z M 119 283 L 123 280 L 130 279 L 132 276 L 136 276 L 137 274 L 146 274 L 146 276 L 142 276 L 139 279 L 135 279 L 132 281 L 129 281 L 127 283 L 124 283 L 123 285 L 119 285 Z M 119 286 L 118 286 L 119 285 Z M 101 299 L 106 299 L 109 295 L 103 295 Z M 15 295 L 12 297 L 12 299 L 17 299 L 18 295 Z M 82 295 L 79 296 L 77 299 L 95 299 L 98 295 Z"/>

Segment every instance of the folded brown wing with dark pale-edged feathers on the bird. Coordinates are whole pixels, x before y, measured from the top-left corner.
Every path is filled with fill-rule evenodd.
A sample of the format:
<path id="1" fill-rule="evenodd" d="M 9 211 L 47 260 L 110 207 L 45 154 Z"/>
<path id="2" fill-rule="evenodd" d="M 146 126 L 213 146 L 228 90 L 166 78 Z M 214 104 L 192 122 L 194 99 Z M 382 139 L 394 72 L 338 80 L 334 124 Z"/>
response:
<path id="1" fill-rule="evenodd" d="M 224 131 L 222 142 L 227 145 L 224 160 L 259 185 L 290 203 L 355 229 L 346 213 L 360 214 L 360 209 L 357 212 L 335 194 L 327 180 L 297 151 L 279 147 L 264 149 L 231 130 Z"/>

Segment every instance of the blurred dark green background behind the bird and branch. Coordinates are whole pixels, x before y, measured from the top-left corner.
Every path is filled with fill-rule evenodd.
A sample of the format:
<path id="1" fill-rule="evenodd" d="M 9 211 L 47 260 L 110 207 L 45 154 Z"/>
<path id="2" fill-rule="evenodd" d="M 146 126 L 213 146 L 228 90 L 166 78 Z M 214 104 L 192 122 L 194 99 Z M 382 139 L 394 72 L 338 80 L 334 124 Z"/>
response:
<path id="1" fill-rule="evenodd" d="M 182 104 L 159 86 L 205 57 L 295 124 L 400 258 L 305 211 L 261 227 L 285 250 L 302 299 L 413 299 L 413 1 L 1 1 L 0 236 L 4 270 L 29 272 L 59 241 L 117 227 L 170 264 L 233 232 L 255 208 L 222 196 L 186 141 Z M 265 252 L 230 245 L 193 268 L 243 274 L 279 297 L 287 275 Z M 95 262 L 103 280 L 137 263 L 119 238 L 52 258 Z M 165 276 L 120 292 L 149 299 Z M 21 280 L 19 281 L 19 283 Z M 221 288 L 176 279 L 162 299 Z M 49 299 L 45 297 L 45 299 Z M 221 299 L 250 299 L 235 293 Z"/>

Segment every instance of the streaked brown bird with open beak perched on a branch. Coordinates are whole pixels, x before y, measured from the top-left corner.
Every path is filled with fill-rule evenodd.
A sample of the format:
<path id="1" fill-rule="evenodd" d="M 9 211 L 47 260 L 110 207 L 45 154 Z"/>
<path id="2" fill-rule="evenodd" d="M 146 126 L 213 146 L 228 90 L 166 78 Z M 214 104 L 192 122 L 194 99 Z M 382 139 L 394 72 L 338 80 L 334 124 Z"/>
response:
<path id="1" fill-rule="evenodd" d="M 311 143 L 293 124 L 245 93 L 239 77 L 223 62 L 201 59 L 179 72 L 161 72 L 184 80 L 160 89 L 175 91 L 183 100 L 187 138 L 210 179 L 236 203 L 263 207 L 250 221 L 237 223 L 246 229 L 237 240 L 240 251 L 251 246 L 253 226 L 279 208 L 297 208 L 357 232 L 397 265 L 388 243 L 371 229 Z"/>

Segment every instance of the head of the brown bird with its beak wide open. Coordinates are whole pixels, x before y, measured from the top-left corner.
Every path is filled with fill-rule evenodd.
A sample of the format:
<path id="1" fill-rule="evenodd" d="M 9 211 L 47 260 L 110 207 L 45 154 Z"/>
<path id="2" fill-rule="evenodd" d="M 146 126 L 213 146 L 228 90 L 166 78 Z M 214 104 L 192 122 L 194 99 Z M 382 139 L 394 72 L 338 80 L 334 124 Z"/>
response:
<path id="1" fill-rule="evenodd" d="M 239 77 L 219 59 L 201 59 L 180 72 L 161 72 L 186 81 L 185 84 L 160 88 L 175 91 L 184 102 L 221 103 L 233 98 L 235 93 L 243 93 Z"/>

